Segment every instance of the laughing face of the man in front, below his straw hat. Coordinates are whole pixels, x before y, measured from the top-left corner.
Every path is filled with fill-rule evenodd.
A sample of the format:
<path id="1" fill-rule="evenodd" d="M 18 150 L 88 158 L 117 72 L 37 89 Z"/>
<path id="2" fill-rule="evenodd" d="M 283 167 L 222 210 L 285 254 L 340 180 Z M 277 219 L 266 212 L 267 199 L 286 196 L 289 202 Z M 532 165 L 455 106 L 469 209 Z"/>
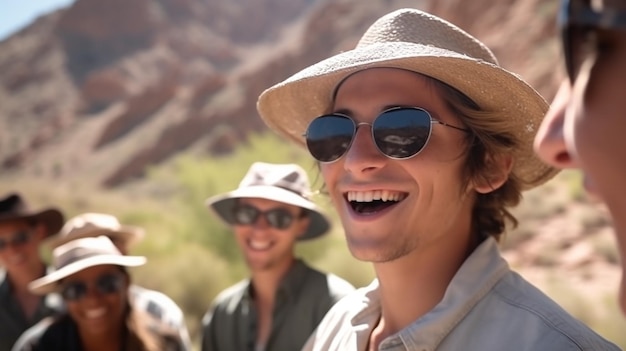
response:
<path id="1" fill-rule="evenodd" d="M 371 124 L 393 107 L 420 107 L 434 119 L 463 126 L 426 78 L 392 68 L 368 69 L 347 78 L 332 112 Z M 356 258 L 388 262 L 445 251 L 454 260 L 453 256 L 465 254 L 460 251 L 470 240 L 475 202 L 471 185 L 464 186 L 461 176 L 465 138 L 463 131 L 433 124 L 430 140 L 419 154 L 394 160 L 377 149 L 371 126 L 361 125 L 342 157 L 321 164 Z M 388 201 L 376 200 L 381 197 Z"/>

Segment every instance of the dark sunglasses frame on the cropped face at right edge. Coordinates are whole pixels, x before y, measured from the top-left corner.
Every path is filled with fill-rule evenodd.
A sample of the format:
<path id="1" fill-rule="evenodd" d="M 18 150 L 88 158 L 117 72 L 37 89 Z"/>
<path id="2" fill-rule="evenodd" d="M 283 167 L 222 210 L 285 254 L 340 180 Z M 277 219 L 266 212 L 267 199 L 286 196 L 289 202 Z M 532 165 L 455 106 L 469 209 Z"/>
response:
<path id="1" fill-rule="evenodd" d="M 574 67 L 572 27 L 587 27 L 590 30 L 624 30 L 626 29 L 626 11 L 606 8 L 602 12 L 597 12 L 591 8 L 589 1 L 561 0 L 558 23 L 561 30 L 565 67 L 570 82 L 573 83 L 576 80 L 577 68 Z"/>

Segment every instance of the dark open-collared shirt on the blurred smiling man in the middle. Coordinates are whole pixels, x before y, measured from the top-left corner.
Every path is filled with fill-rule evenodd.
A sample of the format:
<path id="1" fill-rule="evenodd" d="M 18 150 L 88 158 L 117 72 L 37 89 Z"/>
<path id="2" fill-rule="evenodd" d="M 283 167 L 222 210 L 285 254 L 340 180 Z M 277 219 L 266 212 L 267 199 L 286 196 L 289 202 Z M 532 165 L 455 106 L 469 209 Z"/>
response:
<path id="1" fill-rule="evenodd" d="M 299 351 L 332 305 L 354 287 L 301 260 L 277 291 L 272 331 L 265 351 Z M 202 320 L 202 351 L 254 351 L 257 312 L 250 280 L 220 293 Z"/>

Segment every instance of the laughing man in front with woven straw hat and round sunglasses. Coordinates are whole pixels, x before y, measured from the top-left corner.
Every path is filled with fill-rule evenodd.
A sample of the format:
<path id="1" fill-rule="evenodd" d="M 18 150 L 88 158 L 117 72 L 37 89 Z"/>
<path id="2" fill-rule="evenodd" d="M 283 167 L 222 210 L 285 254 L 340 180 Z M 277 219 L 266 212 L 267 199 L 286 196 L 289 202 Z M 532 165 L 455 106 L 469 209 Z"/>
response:
<path id="1" fill-rule="evenodd" d="M 618 350 L 500 254 L 508 209 L 556 171 L 532 150 L 546 102 L 480 41 L 397 10 L 257 107 L 319 161 L 352 255 L 377 276 L 303 350 Z"/>

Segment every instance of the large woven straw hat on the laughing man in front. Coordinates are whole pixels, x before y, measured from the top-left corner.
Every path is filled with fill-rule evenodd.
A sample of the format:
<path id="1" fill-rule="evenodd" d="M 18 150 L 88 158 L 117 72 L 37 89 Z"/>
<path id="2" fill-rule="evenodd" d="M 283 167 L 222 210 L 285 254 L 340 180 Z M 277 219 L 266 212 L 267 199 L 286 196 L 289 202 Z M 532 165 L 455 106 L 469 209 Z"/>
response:
<path id="1" fill-rule="evenodd" d="M 356 48 L 287 78 L 259 96 L 257 109 L 279 134 L 305 144 L 309 122 L 329 113 L 338 85 L 350 74 L 373 67 L 400 68 L 440 80 L 463 92 L 484 111 L 495 112 L 515 131 L 515 174 L 524 189 L 558 171 L 533 152 L 533 139 L 548 110 L 546 101 L 515 73 L 500 67 L 491 51 L 455 25 L 416 9 L 378 19 Z"/>

